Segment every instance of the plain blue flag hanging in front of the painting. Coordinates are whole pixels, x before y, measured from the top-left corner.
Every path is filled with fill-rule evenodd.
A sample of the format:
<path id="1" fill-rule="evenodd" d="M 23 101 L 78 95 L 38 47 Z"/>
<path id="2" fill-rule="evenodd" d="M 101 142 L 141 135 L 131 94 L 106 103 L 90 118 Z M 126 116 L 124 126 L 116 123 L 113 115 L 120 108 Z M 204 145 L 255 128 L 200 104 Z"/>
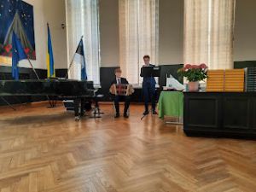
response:
<path id="1" fill-rule="evenodd" d="M 19 61 L 27 59 L 25 51 L 17 38 L 15 32 L 12 35 L 12 76 L 15 80 L 19 79 Z"/>

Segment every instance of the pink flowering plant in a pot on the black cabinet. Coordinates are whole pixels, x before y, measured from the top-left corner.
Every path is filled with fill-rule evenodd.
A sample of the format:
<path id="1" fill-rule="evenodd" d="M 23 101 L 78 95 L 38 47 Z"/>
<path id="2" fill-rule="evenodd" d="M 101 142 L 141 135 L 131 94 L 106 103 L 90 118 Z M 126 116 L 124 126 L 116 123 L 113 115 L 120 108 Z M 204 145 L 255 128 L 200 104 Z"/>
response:
<path id="1" fill-rule="evenodd" d="M 188 79 L 189 81 L 189 91 L 198 91 L 199 82 L 207 79 L 208 67 L 206 64 L 202 63 L 201 65 L 190 65 L 187 64 L 185 67 L 179 69 L 177 73 Z"/>

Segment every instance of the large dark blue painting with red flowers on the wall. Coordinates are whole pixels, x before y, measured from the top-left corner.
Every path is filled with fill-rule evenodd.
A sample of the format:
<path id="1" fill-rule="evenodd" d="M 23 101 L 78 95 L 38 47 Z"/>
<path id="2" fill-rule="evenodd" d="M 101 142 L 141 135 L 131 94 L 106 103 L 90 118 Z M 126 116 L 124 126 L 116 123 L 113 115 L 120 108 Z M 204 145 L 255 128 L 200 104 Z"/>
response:
<path id="1" fill-rule="evenodd" d="M 15 32 L 31 60 L 36 60 L 33 6 L 21 0 L 0 0 L 0 65 L 11 64 Z"/>

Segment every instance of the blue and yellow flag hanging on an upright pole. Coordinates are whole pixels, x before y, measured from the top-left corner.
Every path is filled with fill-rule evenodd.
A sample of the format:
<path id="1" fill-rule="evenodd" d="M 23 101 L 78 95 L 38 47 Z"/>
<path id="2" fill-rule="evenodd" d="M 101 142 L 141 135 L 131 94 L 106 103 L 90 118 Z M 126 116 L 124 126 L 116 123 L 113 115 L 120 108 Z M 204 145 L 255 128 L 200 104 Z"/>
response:
<path id="1" fill-rule="evenodd" d="M 47 31 L 48 31 L 48 48 L 47 48 L 47 77 L 48 78 L 55 78 L 55 61 L 54 55 L 52 51 L 52 44 L 51 44 L 51 37 L 49 32 L 49 24 L 47 23 Z"/>

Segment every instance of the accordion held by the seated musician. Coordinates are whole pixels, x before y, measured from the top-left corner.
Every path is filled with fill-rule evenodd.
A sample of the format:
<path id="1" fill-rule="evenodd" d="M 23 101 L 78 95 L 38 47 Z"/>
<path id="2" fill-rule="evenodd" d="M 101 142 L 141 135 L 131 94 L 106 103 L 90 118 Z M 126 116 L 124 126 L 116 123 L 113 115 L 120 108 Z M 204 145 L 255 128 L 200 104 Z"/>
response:
<path id="1" fill-rule="evenodd" d="M 134 93 L 131 84 L 112 84 L 109 91 L 115 96 L 131 96 Z"/>

